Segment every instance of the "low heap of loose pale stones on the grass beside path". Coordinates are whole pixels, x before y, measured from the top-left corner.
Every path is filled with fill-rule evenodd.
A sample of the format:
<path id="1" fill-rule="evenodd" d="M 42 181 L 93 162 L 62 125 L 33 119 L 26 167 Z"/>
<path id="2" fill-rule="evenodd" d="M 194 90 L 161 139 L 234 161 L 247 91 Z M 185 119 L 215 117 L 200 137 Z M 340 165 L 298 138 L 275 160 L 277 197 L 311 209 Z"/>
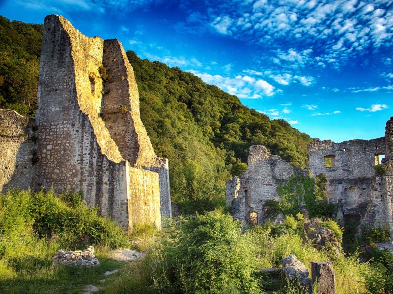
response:
<path id="1" fill-rule="evenodd" d="M 78 268 L 94 268 L 100 265 L 100 262 L 94 255 L 94 247 L 88 246 L 87 249 L 76 251 L 59 250 L 54 257 L 53 265 L 72 266 Z"/>

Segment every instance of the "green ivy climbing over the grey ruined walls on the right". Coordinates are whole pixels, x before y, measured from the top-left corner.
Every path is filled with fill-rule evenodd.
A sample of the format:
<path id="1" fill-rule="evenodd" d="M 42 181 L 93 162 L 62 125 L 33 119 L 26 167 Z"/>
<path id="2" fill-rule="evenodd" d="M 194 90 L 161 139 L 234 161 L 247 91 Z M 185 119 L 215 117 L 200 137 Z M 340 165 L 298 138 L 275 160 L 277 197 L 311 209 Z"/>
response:
<path id="1" fill-rule="evenodd" d="M 326 201 L 316 201 L 315 180 L 308 176 L 296 174 L 290 176 L 287 184 L 279 185 L 278 193 L 281 196 L 280 209 L 284 215 L 295 216 L 300 211 L 304 201 L 309 217 L 332 217 L 335 204 Z"/>

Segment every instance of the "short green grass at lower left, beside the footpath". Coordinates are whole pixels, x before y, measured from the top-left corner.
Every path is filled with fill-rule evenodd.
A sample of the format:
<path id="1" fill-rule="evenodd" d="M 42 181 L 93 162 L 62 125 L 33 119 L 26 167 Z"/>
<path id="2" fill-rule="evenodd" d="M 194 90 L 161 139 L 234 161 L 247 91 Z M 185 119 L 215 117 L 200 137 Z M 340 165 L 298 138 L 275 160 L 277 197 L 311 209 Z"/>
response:
<path id="1" fill-rule="evenodd" d="M 35 269 L 17 269 L 0 261 L 0 293 L 83 293 L 87 285 L 103 286 L 100 280 L 107 278 L 103 275 L 104 272 L 122 270 L 127 264 L 108 258 L 106 249 L 98 248 L 96 257 L 100 261 L 100 266 L 95 269 L 54 268 L 50 257 L 36 261 L 40 266 Z"/>

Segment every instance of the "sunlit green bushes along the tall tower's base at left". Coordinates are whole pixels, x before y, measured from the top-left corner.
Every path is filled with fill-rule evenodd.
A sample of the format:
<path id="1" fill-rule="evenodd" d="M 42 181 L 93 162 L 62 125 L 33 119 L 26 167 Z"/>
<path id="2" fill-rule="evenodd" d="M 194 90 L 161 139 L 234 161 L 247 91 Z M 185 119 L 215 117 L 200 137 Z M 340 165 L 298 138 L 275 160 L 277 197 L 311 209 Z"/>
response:
<path id="1" fill-rule="evenodd" d="M 60 239 L 59 245 L 65 248 L 129 245 L 126 232 L 112 220 L 98 216 L 98 208 L 84 205 L 78 193 L 56 197 L 52 191 L 13 191 L 0 195 L 0 251 L 3 254 L 7 254 L 20 236 L 24 236 L 28 244 L 43 244 L 53 233 Z"/>

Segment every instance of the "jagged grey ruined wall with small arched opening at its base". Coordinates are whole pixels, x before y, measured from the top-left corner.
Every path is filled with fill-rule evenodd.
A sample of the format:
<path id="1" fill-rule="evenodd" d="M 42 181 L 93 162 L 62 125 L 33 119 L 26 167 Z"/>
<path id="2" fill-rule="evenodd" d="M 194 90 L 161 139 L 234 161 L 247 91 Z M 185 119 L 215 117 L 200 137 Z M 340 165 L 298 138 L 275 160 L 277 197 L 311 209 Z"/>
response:
<path id="1" fill-rule="evenodd" d="M 247 222 L 255 218 L 256 223 L 262 223 L 265 202 L 279 200 L 277 187 L 294 174 L 293 167 L 280 156 L 269 154 L 264 146 L 251 146 L 249 167 L 240 178 L 238 196 L 232 204 L 234 217 Z"/>

